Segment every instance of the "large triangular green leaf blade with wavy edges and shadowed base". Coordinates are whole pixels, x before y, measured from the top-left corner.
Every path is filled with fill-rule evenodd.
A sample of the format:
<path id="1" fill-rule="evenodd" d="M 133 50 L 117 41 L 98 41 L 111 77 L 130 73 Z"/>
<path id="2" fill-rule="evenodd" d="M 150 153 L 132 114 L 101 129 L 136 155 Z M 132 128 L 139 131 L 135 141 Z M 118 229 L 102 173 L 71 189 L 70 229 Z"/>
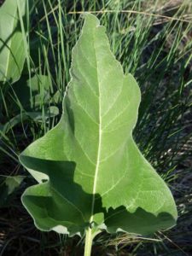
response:
<path id="1" fill-rule="evenodd" d="M 174 225 L 172 194 L 132 138 L 139 87 L 93 15 L 73 48 L 71 77 L 59 124 L 20 154 L 38 181 L 22 196 L 38 229 L 147 235 Z"/>

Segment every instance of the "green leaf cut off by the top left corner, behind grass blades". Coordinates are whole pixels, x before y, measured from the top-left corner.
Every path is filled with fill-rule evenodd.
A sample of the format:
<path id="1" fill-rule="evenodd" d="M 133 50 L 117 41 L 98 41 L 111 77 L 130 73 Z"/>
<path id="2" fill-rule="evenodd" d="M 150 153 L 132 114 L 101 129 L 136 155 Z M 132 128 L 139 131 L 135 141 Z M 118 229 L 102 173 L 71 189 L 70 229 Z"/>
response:
<path id="1" fill-rule="evenodd" d="M 24 16 L 26 0 L 6 0 L 0 9 L 0 81 L 11 83 L 20 78 L 26 58 L 17 3 Z"/>

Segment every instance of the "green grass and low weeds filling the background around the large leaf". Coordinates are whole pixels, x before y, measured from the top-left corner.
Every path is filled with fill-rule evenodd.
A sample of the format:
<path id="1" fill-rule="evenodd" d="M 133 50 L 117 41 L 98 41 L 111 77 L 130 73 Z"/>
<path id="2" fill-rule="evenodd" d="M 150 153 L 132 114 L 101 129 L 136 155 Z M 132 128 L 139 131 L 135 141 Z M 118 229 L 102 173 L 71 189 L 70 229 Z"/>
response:
<path id="1" fill-rule="evenodd" d="M 82 255 L 84 239 L 34 227 L 20 195 L 35 181 L 18 155 L 60 119 L 71 50 L 83 23 L 79 12 L 84 11 L 96 12 L 107 26 L 113 54 L 140 85 L 134 137 L 172 189 L 179 214 L 176 227 L 153 237 L 103 233 L 96 237 L 93 254 L 192 255 L 191 1 L 27 3 L 26 16 L 20 16 L 25 65 L 15 83 L 0 82 L 0 256 Z"/>

